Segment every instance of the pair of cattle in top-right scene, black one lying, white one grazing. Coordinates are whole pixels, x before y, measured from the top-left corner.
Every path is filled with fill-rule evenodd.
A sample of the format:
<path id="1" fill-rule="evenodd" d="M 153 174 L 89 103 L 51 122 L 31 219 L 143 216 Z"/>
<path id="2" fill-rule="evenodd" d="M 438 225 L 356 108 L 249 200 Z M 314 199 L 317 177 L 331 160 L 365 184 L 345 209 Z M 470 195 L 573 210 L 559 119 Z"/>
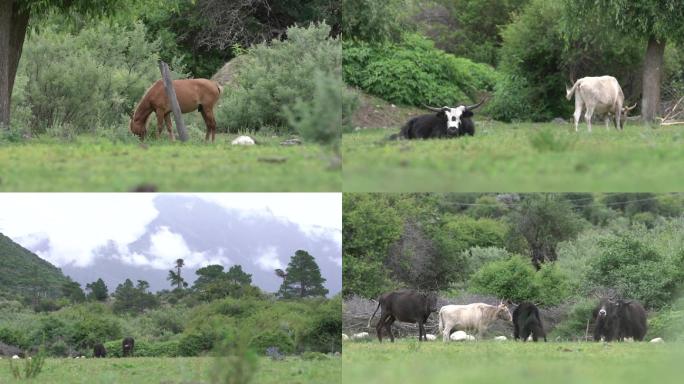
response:
<path id="1" fill-rule="evenodd" d="M 606 122 L 606 129 L 612 118 L 616 129 L 622 130 L 627 114 L 636 107 L 625 107 L 625 95 L 617 79 L 612 76 L 584 77 L 577 80 L 572 87 L 566 87 L 568 100 L 575 96 L 575 131 L 585 111 L 584 118 L 587 128 L 591 132 L 591 118 L 596 113 L 602 116 Z M 425 106 L 434 113 L 420 115 L 411 118 L 401 131 L 389 137 L 390 140 L 398 139 L 436 139 L 450 138 L 475 134 L 475 123 L 472 120 L 473 110 L 481 106 L 485 99 L 475 105 L 458 105 L 456 107 L 444 106 L 435 108 Z"/>

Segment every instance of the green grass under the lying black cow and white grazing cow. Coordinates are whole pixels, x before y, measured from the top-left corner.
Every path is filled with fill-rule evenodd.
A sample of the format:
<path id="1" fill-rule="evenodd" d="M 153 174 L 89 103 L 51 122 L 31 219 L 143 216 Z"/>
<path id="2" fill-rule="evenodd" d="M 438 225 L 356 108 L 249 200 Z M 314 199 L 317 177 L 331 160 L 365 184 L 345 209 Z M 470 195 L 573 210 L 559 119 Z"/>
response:
<path id="1" fill-rule="evenodd" d="M 386 141 L 396 129 L 343 135 L 344 191 L 649 191 L 684 189 L 684 128 L 476 121 L 476 135 Z"/>

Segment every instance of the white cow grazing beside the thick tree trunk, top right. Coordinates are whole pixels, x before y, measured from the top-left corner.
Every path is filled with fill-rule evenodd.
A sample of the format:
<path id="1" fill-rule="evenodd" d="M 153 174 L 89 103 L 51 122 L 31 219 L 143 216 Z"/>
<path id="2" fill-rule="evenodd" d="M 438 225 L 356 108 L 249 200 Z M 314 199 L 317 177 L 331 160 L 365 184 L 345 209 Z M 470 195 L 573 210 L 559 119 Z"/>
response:
<path id="1" fill-rule="evenodd" d="M 587 122 L 589 132 L 591 132 L 591 116 L 594 112 L 603 115 L 608 127 L 609 117 L 614 117 L 615 128 L 622 130 L 627 120 L 627 113 L 636 107 L 624 107 L 625 95 L 622 88 L 613 76 L 583 77 L 575 82 L 572 88 L 565 87 L 568 100 L 575 95 L 575 131 L 579 119 L 582 116 L 582 109 L 585 109 L 584 119 Z"/>

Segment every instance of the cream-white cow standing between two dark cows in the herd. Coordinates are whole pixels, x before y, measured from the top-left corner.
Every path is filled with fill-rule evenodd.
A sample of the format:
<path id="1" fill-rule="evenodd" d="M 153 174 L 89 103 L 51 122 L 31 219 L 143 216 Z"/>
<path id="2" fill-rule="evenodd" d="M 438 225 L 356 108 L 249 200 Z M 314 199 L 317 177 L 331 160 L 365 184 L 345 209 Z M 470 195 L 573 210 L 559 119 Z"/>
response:
<path id="1" fill-rule="evenodd" d="M 513 321 L 513 316 L 503 302 L 499 305 L 474 303 L 467 305 L 445 305 L 439 310 L 439 331 L 442 340 L 449 341 L 453 328 L 459 330 L 474 330 L 477 335 L 482 334 L 496 319 Z"/>

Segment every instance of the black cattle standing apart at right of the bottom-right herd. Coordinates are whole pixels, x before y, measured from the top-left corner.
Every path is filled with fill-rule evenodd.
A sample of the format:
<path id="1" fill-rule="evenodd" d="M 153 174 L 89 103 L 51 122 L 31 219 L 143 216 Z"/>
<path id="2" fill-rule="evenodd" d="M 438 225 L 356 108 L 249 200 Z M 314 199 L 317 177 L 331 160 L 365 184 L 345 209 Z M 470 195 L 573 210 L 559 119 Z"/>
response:
<path id="1" fill-rule="evenodd" d="M 631 337 L 642 341 L 646 336 L 646 310 L 636 300 L 601 299 L 594 309 L 594 341 L 624 341 Z"/>

